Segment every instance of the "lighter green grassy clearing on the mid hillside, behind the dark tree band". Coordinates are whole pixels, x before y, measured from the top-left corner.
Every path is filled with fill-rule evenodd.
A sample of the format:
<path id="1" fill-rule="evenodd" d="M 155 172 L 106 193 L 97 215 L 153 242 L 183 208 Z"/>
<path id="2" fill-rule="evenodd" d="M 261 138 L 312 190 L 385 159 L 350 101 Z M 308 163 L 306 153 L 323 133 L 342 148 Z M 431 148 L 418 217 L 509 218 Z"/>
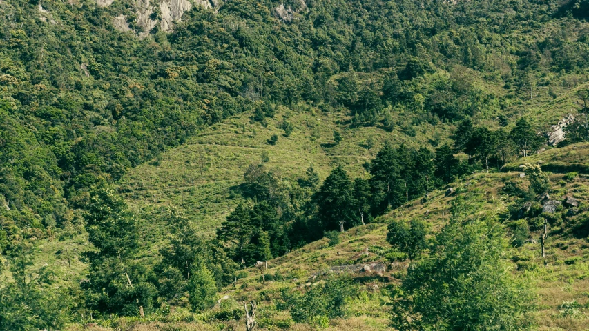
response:
<path id="1" fill-rule="evenodd" d="M 363 163 L 374 158 L 385 140 L 418 146 L 427 143 L 435 132 L 443 136 L 450 127 L 423 123 L 416 137 L 408 137 L 399 128 L 392 132 L 378 127 L 350 128 L 347 116 L 316 108 L 309 111 L 304 105 L 296 108 L 302 107 L 305 110 L 281 107 L 273 119 L 267 119 L 266 128 L 243 114 L 200 132 L 128 174 L 121 184 L 128 202 L 146 215 L 157 206 L 177 205 L 202 232 L 211 233 L 240 201 L 231 188 L 242 183 L 247 165 L 261 162 L 264 150 L 270 159 L 267 168 L 290 181 L 302 177 L 309 165 L 321 179 L 336 165 L 345 166 L 353 177 L 363 177 Z M 284 119 L 294 126 L 290 137 L 284 137 L 280 129 Z M 342 132 L 343 141 L 338 146 L 333 146 L 334 130 Z M 313 138 L 313 132 L 320 132 L 320 137 Z M 267 143 L 272 134 L 279 136 L 274 146 Z M 365 146 L 369 137 L 374 139 L 371 149 Z"/>

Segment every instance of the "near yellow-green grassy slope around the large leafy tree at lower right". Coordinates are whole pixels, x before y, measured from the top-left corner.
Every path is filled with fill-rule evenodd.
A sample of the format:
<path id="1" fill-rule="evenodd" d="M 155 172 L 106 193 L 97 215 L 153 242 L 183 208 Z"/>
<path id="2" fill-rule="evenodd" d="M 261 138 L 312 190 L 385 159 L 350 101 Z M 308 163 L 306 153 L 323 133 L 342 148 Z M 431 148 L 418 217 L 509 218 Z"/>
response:
<path id="1" fill-rule="evenodd" d="M 570 146 L 574 150 L 587 150 L 588 143 Z M 555 159 L 566 160 L 570 152 L 566 149 L 550 151 Z M 548 154 L 549 152 L 546 152 Z M 531 162 L 532 158 L 522 159 Z M 564 197 L 574 197 L 579 202 L 578 208 L 565 207 L 555 214 L 541 214 L 550 219 L 548 238 L 545 241 L 546 259 L 541 257 L 541 227 L 534 228 L 536 218 L 525 215 L 522 219 L 514 216 L 521 208 L 521 199 L 513 194 L 508 187 L 515 183 L 526 190 L 528 180 L 520 177 L 519 172 L 499 172 L 491 174 L 474 174 L 465 177 L 449 187 L 456 193 L 447 194 L 446 190 L 436 190 L 429 194 L 427 201 L 410 201 L 397 210 L 393 210 L 374 223 L 358 226 L 340 234 L 340 243 L 331 245 L 329 239 L 316 241 L 303 248 L 293 250 L 283 257 L 267 261 L 264 271 L 266 282 L 262 282 L 260 271 L 247 269 L 235 283 L 226 287 L 218 294 L 222 305 L 210 312 L 192 315 L 181 305 L 177 306 L 169 317 L 162 321 L 181 319 L 189 321 L 187 325 L 194 328 L 205 328 L 201 322 L 190 322 L 191 319 L 220 323 L 229 328 L 242 330 L 242 321 L 233 321 L 233 314 L 242 314 L 242 301 L 258 302 L 256 318 L 262 330 L 314 330 L 316 325 L 293 324 L 288 310 L 281 308 L 284 290 L 296 289 L 305 291 L 312 286 L 320 286 L 325 282 L 325 272 L 339 265 L 362 263 L 384 263 L 387 271 L 382 274 L 359 272 L 351 274 L 355 283 L 365 293 L 349 301 L 349 314 L 345 319 L 334 319 L 329 322 L 327 330 L 387 330 L 389 329 L 389 310 L 394 303 L 396 285 L 405 274 L 408 261 L 395 261 L 389 255 L 391 248 L 387 243 L 387 225 L 392 219 L 410 221 L 421 219 L 427 223 L 431 235 L 447 223 L 450 217 L 450 206 L 457 196 L 470 197 L 472 200 L 472 217 L 494 216 L 503 223 L 508 236 L 517 240 L 514 229 L 526 224 L 530 232 L 525 234 L 528 239 L 521 246 L 510 248 L 505 258 L 512 261 L 514 273 L 529 280 L 537 294 L 537 311 L 532 314 L 536 330 L 584 330 L 589 321 L 589 297 L 586 288 L 589 285 L 587 270 L 589 267 L 589 241 L 586 232 L 578 232 L 579 227 L 587 227 L 589 205 L 589 177 L 567 177 L 563 173 L 550 174 L 550 199 L 562 201 Z M 532 199 L 532 201 L 539 201 Z M 568 212 L 572 210 L 573 212 Z M 517 214 L 517 213 L 516 213 Z M 427 254 L 427 252 L 424 252 Z M 329 274 L 329 273 L 328 273 Z M 329 281 L 329 278 L 327 278 Z M 226 296 L 226 297 L 225 297 Z M 228 315 L 229 314 L 229 315 Z M 231 315 L 232 316 L 232 315 Z M 157 322 L 160 323 L 160 322 Z M 144 322 L 144 326 L 132 330 L 152 327 L 156 322 Z M 199 326 L 201 325 L 201 326 Z M 188 328 L 188 326 L 186 326 Z"/>

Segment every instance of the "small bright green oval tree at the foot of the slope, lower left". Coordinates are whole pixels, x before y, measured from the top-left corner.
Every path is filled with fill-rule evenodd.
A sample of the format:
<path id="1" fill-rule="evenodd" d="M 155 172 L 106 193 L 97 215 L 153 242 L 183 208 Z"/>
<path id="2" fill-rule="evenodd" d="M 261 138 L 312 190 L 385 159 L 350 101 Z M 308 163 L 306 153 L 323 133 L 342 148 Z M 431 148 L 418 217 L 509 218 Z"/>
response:
<path id="1" fill-rule="evenodd" d="M 213 273 L 203 263 L 197 263 L 192 270 L 188 292 L 189 303 L 194 311 L 202 311 L 215 304 L 217 285 Z"/>

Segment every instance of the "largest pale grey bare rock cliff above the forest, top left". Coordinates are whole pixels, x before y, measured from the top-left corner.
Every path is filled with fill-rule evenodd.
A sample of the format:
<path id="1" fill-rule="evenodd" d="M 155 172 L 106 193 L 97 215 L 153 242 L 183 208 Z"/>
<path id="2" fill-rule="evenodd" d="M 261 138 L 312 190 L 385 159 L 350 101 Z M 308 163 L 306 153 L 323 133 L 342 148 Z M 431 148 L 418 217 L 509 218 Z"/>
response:
<path id="1" fill-rule="evenodd" d="M 97 6 L 108 7 L 114 0 L 96 0 Z M 173 30 L 174 21 L 180 21 L 184 12 L 191 10 L 193 6 L 202 6 L 204 8 L 217 8 L 220 6 L 220 1 L 215 0 L 135 0 L 133 7 L 135 8 L 135 24 L 142 28 L 142 31 L 137 33 L 137 37 L 144 38 L 149 35 L 151 29 L 158 24 L 162 31 L 170 32 Z M 154 8 L 159 9 L 157 18 L 154 19 Z M 124 15 L 113 17 L 113 26 L 119 31 L 128 32 L 129 28 Z"/>

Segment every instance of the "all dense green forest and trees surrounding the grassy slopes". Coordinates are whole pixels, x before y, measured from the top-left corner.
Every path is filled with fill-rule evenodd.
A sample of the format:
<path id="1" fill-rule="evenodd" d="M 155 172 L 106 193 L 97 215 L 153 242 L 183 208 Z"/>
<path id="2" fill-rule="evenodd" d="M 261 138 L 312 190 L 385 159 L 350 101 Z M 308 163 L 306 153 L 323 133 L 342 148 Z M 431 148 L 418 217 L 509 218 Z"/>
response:
<path id="1" fill-rule="evenodd" d="M 103 7 L 93 0 L 0 0 L 1 329 L 58 330 L 70 320 L 167 314 L 170 305 L 206 311 L 218 291 L 237 286 L 247 277 L 243 269 L 258 261 L 324 236 L 336 245 L 334 231 L 369 225 L 411 201 L 429 201 L 449 183 L 538 152 L 546 139 L 537 131 L 553 123 L 525 116 L 534 100 L 574 90 L 586 115 L 588 90 L 577 86 L 587 81 L 589 65 L 587 1 L 287 2 L 195 6 L 173 32 L 154 28 L 141 39 L 113 26 L 113 17 L 125 14 L 140 29 L 135 5 L 126 1 Z M 291 7 L 293 20 L 276 17 L 280 4 Z M 142 226 L 153 219 L 141 219 L 117 183 L 214 123 L 243 113 L 251 126 L 267 127 L 285 109 L 346 117 L 336 130 L 313 132 L 333 137 L 323 150 L 342 146 L 345 132 L 361 127 L 400 134 L 406 143 L 379 141 L 363 174 L 334 164 L 324 181 L 313 165 L 286 179 L 262 154 L 241 170 L 243 182 L 232 191 L 239 203 L 227 204 L 214 236 L 203 235 L 175 206 L 155 208 L 150 217 L 163 229 L 151 238 L 161 244 L 146 252 Z M 412 141 L 440 126 L 445 136 Z M 235 134 L 245 134 L 245 126 L 240 130 Z M 280 130 L 264 143 L 280 145 L 296 128 L 284 119 Z M 589 140 L 586 121 L 566 131 L 560 146 Z M 366 148 L 374 144 L 366 141 Z M 505 192 L 531 203 L 550 183 L 539 167 L 524 171 L 528 187 L 507 182 Z M 539 217 L 534 208 L 526 217 Z M 407 295 L 394 323 L 452 330 L 527 325 L 513 317 L 527 312 L 532 305 L 523 301 L 532 299 L 503 268 L 508 245 L 497 223 L 454 217 L 429 234 L 418 219 L 391 222 L 392 260 L 412 261 L 397 289 Z M 584 233 L 586 223 L 575 226 Z M 521 246 L 537 228 L 513 225 L 508 233 Z M 77 254 L 84 269 L 55 291 L 56 266 L 28 261 L 41 241 L 74 239 L 91 245 Z M 487 253 L 478 256 L 481 250 Z M 513 314 L 483 289 L 481 311 L 447 321 L 454 312 L 442 301 L 472 299 L 434 281 L 458 253 L 477 258 L 467 266 L 450 261 L 464 267 L 456 272 L 466 281 L 447 283 L 479 292 L 482 283 L 496 281 Z M 432 291 L 440 297 L 423 294 Z M 293 321 L 325 326 L 345 317 L 346 302 L 358 294 L 344 277 L 281 296 Z M 440 310 L 429 310 L 434 306 Z"/>

